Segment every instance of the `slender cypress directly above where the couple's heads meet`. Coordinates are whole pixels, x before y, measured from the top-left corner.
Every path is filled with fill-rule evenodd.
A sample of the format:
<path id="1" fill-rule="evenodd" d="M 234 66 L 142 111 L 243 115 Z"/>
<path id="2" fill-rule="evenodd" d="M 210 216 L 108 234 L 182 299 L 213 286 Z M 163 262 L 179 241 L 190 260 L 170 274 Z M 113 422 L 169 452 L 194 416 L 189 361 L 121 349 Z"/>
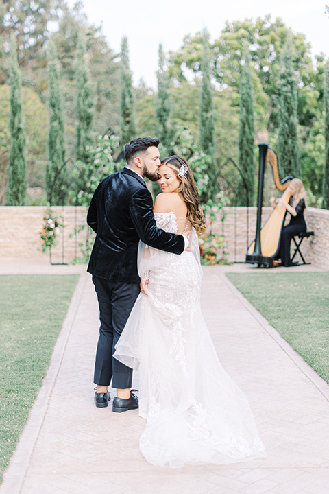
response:
<path id="1" fill-rule="evenodd" d="M 169 130 L 169 77 L 165 69 L 166 57 L 164 55 L 161 43 L 158 49 L 158 57 L 159 69 L 156 72 L 156 77 L 158 80 L 158 95 L 156 97 L 156 124 L 158 138 L 164 145 L 164 148 L 168 149 L 171 141 Z"/>

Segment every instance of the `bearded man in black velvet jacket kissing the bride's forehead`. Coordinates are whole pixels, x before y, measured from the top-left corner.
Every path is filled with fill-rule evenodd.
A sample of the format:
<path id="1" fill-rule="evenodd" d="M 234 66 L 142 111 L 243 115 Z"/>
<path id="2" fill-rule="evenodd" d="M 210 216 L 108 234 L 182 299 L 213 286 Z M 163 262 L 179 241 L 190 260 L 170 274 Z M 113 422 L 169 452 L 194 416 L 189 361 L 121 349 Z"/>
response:
<path id="1" fill-rule="evenodd" d="M 139 137 L 125 145 L 127 165 L 104 178 L 90 202 L 87 223 L 96 239 L 88 264 L 99 303 L 99 340 L 94 382 L 95 405 L 108 406 L 108 386 L 117 388 L 113 412 L 138 408 L 130 388 L 132 369 L 112 357 L 121 331 L 140 292 L 137 271 L 138 242 L 181 254 L 188 246 L 183 235 L 156 227 L 153 202 L 144 177 L 158 180 L 159 139 Z"/>

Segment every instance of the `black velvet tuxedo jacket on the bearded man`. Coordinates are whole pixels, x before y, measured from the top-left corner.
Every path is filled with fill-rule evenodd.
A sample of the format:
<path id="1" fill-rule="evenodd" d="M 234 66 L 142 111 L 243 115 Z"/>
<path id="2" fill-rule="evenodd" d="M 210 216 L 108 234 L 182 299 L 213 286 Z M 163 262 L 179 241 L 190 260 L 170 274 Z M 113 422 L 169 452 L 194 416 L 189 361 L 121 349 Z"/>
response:
<path id="1" fill-rule="evenodd" d="M 133 170 L 104 178 L 88 209 L 87 223 L 97 233 L 87 271 L 110 281 L 139 283 L 138 242 L 181 254 L 184 237 L 156 227 L 146 184 Z"/>

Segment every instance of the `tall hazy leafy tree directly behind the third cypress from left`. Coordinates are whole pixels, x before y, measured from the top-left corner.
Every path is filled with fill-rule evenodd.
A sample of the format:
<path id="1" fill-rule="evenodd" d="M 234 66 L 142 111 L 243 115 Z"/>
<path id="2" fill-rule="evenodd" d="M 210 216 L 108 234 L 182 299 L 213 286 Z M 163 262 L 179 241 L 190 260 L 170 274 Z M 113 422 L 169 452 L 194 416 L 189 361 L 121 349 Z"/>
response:
<path id="1" fill-rule="evenodd" d="M 120 62 L 109 47 L 101 27 L 90 25 L 82 10 L 82 3 L 73 8 L 62 6 L 56 40 L 61 65 L 62 95 L 65 108 L 66 156 L 75 155 L 76 146 L 76 84 L 75 58 L 77 38 L 80 31 L 86 33 L 86 57 L 90 80 L 95 88 L 95 113 L 93 132 L 103 134 L 112 128 L 119 134 L 120 118 Z M 93 139 L 95 141 L 95 139 Z"/>

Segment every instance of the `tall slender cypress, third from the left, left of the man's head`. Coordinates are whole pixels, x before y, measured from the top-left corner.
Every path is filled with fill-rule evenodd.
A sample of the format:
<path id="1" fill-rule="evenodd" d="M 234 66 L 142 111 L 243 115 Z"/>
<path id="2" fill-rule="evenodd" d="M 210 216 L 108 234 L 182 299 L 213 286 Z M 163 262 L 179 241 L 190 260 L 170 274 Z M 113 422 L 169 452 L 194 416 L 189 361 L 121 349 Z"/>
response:
<path id="1" fill-rule="evenodd" d="M 94 117 L 94 91 L 86 63 L 86 43 L 84 34 L 77 37 L 75 56 L 75 81 L 77 84 L 77 160 L 90 161 L 90 147 L 93 145 L 92 127 Z"/>

